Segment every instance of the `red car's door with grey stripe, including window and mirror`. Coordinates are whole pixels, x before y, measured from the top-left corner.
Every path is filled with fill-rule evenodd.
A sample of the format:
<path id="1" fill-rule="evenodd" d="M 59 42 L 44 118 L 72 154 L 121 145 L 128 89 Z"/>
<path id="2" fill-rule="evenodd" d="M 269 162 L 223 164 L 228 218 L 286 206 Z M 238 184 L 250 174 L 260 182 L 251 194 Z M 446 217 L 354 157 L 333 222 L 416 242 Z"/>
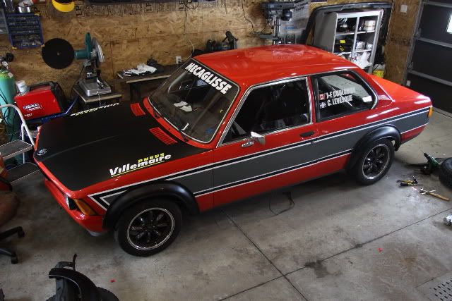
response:
<path id="1" fill-rule="evenodd" d="M 214 150 L 215 206 L 309 178 L 312 111 L 307 78 L 249 89 Z"/>

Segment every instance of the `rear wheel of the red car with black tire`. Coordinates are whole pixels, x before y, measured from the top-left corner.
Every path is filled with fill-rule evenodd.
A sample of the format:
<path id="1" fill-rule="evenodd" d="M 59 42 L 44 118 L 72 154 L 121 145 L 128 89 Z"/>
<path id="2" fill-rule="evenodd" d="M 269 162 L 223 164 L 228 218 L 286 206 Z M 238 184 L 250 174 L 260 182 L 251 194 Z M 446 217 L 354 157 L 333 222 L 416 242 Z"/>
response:
<path id="1" fill-rule="evenodd" d="M 381 156 L 381 154 L 383 154 L 383 156 Z M 377 158 L 377 156 L 381 157 Z M 377 140 L 369 143 L 369 145 L 362 150 L 359 159 L 351 170 L 351 174 L 358 183 L 362 185 L 371 185 L 378 182 L 386 175 L 389 168 L 391 168 L 391 164 L 393 164 L 393 160 L 394 146 L 392 142 L 387 139 Z M 366 165 L 364 166 L 364 164 Z"/>

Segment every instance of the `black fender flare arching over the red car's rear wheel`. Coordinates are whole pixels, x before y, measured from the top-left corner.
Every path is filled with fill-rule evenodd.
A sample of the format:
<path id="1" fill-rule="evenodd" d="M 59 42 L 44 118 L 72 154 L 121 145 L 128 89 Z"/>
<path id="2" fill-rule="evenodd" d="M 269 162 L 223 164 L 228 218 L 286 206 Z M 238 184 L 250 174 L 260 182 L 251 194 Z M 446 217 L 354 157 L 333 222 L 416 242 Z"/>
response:
<path id="1" fill-rule="evenodd" d="M 393 125 L 383 125 L 379 128 L 371 130 L 369 133 L 364 135 L 353 147 L 352 154 L 350 155 L 350 160 L 347 163 L 347 170 L 350 170 L 359 159 L 362 149 L 369 143 L 375 142 L 381 139 L 389 139 L 394 141 L 394 149 L 398 150 L 401 144 L 401 136 L 398 129 Z"/>

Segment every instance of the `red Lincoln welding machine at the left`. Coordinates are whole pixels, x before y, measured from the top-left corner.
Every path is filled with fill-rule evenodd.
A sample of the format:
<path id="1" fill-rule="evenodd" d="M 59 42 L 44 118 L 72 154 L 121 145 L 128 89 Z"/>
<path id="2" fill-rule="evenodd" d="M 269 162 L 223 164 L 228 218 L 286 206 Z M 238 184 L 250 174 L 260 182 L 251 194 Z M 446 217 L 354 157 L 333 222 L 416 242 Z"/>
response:
<path id="1" fill-rule="evenodd" d="M 26 93 L 14 97 L 26 121 L 64 113 L 68 103 L 58 82 L 31 85 Z"/>

